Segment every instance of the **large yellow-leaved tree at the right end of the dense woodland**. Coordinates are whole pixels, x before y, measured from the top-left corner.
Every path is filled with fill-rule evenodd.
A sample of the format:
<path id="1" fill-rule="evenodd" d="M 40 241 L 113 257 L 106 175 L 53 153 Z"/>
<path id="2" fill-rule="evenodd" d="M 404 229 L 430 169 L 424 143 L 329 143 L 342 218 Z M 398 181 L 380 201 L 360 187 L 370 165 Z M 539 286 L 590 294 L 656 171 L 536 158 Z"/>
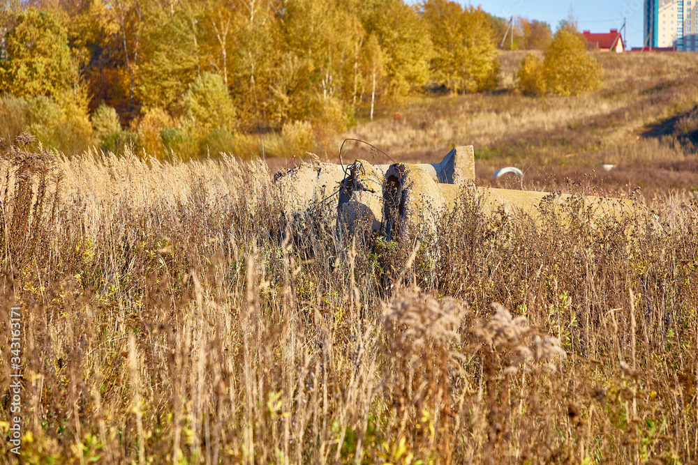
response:
<path id="1" fill-rule="evenodd" d="M 422 13 L 433 43 L 432 78 L 456 92 L 475 92 L 496 85 L 497 49 L 488 15 L 450 0 L 428 0 Z"/>

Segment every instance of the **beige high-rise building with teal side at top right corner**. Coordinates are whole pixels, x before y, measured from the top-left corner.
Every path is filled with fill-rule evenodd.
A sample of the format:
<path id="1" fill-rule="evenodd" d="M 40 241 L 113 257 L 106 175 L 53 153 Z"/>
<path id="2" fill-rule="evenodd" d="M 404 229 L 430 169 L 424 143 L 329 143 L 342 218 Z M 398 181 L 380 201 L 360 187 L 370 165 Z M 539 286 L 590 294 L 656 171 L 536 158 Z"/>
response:
<path id="1" fill-rule="evenodd" d="M 644 45 L 698 51 L 698 0 L 645 0 L 644 15 Z"/>

